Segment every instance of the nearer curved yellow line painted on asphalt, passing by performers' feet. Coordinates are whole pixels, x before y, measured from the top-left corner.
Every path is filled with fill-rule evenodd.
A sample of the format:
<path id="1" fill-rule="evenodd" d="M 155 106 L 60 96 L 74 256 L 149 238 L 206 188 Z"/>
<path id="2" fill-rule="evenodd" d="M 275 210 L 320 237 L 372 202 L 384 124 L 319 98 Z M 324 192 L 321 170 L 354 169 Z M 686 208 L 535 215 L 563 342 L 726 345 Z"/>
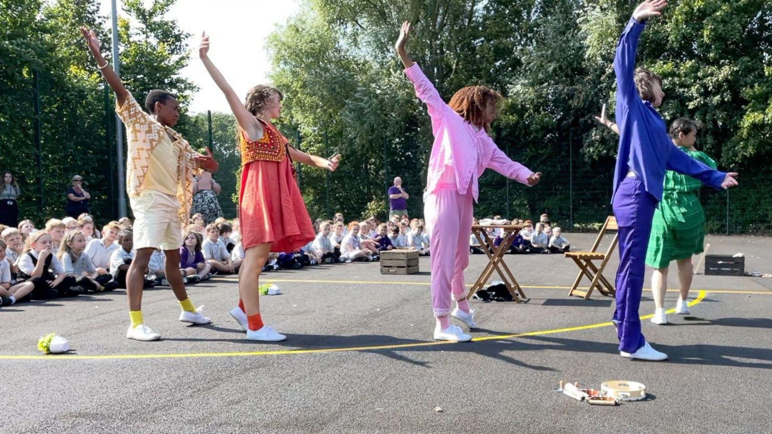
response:
<path id="1" fill-rule="evenodd" d="M 706 296 L 705 291 L 699 291 L 696 299 L 689 302 L 689 306 L 703 301 Z M 675 309 L 667 310 L 667 314 L 672 314 Z M 643 315 L 641 320 L 653 317 L 653 314 Z M 599 327 L 611 326 L 611 321 L 587 324 L 576 327 L 555 328 L 544 331 L 529 331 L 527 333 L 498 334 L 496 336 L 475 337 L 472 342 L 493 341 L 501 339 L 510 339 L 512 337 L 541 336 L 544 334 L 567 333 L 570 331 L 590 330 Z M 208 357 L 243 357 L 243 356 L 262 356 L 262 355 L 282 355 L 282 354 L 315 354 L 315 353 L 340 353 L 344 351 L 379 351 L 394 350 L 402 348 L 429 347 L 433 345 L 456 344 L 448 341 L 427 341 L 416 342 L 413 344 L 391 344 L 391 345 L 372 345 L 368 347 L 344 347 L 344 348 L 314 348 L 314 349 L 296 349 L 296 350 L 269 350 L 269 351 L 234 351 L 219 353 L 181 353 L 181 354 L 102 354 L 102 355 L 77 355 L 77 354 L 48 354 L 48 355 L 0 355 L 0 360 L 120 360 L 120 359 L 147 359 L 147 358 L 208 358 Z"/>

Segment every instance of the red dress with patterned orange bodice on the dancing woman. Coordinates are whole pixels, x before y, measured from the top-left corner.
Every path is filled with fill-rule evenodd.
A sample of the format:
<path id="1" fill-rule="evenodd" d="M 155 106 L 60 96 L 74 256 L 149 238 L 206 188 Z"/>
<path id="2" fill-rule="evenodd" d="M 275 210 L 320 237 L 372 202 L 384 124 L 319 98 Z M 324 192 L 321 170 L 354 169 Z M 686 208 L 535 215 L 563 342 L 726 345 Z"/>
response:
<path id="1" fill-rule="evenodd" d="M 293 252 L 313 241 L 313 223 L 295 179 L 288 141 L 271 124 L 248 141 L 242 131 L 239 222 L 244 249 L 270 242 L 271 252 Z"/>

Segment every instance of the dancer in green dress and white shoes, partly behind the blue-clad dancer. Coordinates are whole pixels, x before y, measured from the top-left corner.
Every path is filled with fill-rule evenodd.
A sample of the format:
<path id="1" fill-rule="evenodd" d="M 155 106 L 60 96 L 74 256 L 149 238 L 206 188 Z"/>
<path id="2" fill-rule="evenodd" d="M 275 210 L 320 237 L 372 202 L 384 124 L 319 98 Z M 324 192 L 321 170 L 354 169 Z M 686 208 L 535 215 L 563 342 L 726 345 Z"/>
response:
<path id="1" fill-rule="evenodd" d="M 617 124 L 608 120 L 604 104 L 598 122 L 619 134 Z M 703 151 L 697 151 L 698 126 L 694 120 L 681 117 L 670 126 L 670 137 L 690 157 L 716 168 L 716 161 Z M 652 234 L 648 240 L 646 265 L 654 268 L 652 273 L 652 294 L 654 297 L 654 324 L 668 324 L 662 302 L 668 287 L 668 268 L 671 261 L 678 264 L 681 289 L 675 303 L 675 313 L 689 315 L 688 297 L 692 287 L 692 255 L 703 253 L 705 242 L 705 212 L 699 203 L 699 188 L 702 182 L 675 171 L 665 172 L 662 202 L 654 212 Z"/>

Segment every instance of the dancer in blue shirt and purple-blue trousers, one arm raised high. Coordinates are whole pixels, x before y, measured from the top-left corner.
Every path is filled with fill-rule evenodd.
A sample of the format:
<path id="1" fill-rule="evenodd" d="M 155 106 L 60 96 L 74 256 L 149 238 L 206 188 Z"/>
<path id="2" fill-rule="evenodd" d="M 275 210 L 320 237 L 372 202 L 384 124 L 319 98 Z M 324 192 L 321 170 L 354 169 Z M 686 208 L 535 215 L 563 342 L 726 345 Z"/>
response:
<path id="1" fill-rule="evenodd" d="M 614 214 L 619 227 L 619 269 L 616 279 L 616 311 L 620 355 L 643 360 L 665 360 L 641 333 L 641 304 L 645 257 L 652 219 L 662 200 L 665 170 L 699 179 L 715 188 L 737 185 L 736 173 L 709 168 L 672 143 L 665 121 L 655 107 L 662 104 L 662 79 L 644 68 L 635 68 L 638 39 L 645 22 L 662 15 L 667 0 L 647 0 L 638 5 L 622 32 L 614 59 L 617 77 L 616 117 L 619 150 L 614 173 Z"/>

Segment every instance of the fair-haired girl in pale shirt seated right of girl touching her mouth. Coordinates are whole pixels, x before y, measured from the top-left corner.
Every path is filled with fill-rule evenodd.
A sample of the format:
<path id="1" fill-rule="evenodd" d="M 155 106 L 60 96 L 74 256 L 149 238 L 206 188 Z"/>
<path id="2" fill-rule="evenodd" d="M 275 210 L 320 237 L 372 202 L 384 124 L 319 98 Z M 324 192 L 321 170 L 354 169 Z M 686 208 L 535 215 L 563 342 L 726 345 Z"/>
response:
<path id="1" fill-rule="evenodd" d="M 80 229 L 67 233 L 62 241 L 62 248 L 56 254 L 56 258 L 62 263 L 67 276 L 73 276 L 75 283 L 86 291 L 114 290 L 117 284 L 109 285 L 112 276 L 110 274 L 97 273 L 97 268 L 91 263 L 91 259 L 84 252 L 86 250 L 86 236 Z"/>

